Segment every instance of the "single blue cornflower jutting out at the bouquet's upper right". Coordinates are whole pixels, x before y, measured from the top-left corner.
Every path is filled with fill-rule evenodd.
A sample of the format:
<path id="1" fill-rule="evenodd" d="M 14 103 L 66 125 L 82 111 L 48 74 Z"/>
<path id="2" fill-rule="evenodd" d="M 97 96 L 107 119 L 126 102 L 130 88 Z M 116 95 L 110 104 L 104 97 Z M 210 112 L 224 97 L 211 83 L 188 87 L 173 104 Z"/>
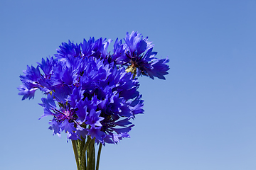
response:
<path id="1" fill-rule="evenodd" d="M 132 32 L 127 33 L 124 38 L 125 57 L 122 56 L 122 63 L 127 65 L 127 72 L 132 72 L 137 76 L 145 75 L 154 79 L 165 79 L 168 74 L 169 66 L 166 64 L 168 59 L 158 59 L 155 57 L 157 52 L 153 52 L 152 42 L 148 38 L 143 38 L 141 34 Z"/>

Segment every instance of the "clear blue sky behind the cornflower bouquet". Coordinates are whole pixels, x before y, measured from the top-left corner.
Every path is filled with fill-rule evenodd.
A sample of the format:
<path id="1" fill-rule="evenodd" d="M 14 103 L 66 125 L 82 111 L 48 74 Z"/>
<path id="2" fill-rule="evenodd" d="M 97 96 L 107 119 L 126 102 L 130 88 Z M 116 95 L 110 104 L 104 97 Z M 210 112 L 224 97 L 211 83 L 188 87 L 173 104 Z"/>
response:
<path id="1" fill-rule="evenodd" d="M 0 169 L 76 169 L 66 135 L 38 120 L 41 92 L 21 101 L 19 75 L 61 42 L 132 30 L 170 70 L 140 77 L 145 113 L 131 138 L 102 148 L 100 170 L 256 169 L 255 0 L 1 0 L 0 26 Z"/>

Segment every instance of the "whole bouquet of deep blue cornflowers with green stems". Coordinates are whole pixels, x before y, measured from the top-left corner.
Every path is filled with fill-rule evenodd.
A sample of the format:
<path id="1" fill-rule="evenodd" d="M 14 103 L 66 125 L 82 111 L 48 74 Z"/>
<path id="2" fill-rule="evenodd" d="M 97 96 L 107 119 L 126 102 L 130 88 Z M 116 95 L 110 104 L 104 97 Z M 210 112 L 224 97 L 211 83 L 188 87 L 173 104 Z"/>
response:
<path id="1" fill-rule="evenodd" d="M 53 116 L 49 129 L 71 140 L 78 170 L 99 169 L 102 145 L 117 144 L 134 126 L 135 115 L 144 113 L 137 91 L 139 76 L 165 79 L 168 59 L 158 59 L 152 42 L 137 32 L 115 40 L 90 38 L 80 44 L 63 42 L 55 58 L 42 59 L 21 75 L 18 94 L 22 100 L 43 91 L 40 105 L 45 116 Z M 39 118 L 39 119 L 41 119 Z M 97 159 L 95 147 L 97 149 Z"/>

